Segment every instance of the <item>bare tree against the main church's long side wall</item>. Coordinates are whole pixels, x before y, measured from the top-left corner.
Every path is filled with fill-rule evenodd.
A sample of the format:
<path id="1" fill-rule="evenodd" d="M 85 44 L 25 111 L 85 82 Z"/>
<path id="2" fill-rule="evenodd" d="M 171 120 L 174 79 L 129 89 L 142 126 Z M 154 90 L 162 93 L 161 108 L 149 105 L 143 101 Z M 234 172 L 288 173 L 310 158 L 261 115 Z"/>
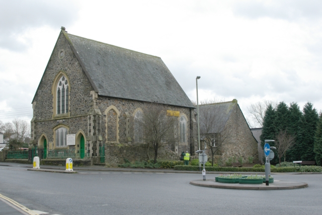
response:
<path id="1" fill-rule="evenodd" d="M 156 163 L 158 149 L 175 142 L 174 122 L 175 116 L 167 116 L 167 108 L 161 104 L 151 103 L 143 109 L 142 116 L 138 117 L 143 130 L 143 140 L 148 149 L 154 150 L 154 163 Z"/>

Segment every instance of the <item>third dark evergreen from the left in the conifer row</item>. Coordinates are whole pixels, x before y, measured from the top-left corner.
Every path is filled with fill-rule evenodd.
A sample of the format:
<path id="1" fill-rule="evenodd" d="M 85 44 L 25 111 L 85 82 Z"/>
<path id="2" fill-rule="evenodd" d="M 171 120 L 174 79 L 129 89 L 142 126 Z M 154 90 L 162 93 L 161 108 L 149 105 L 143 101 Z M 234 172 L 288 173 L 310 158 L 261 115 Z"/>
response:
<path id="1" fill-rule="evenodd" d="M 297 103 L 292 102 L 289 106 L 290 119 L 288 125 L 289 134 L 295 136 L 295 145 L 293 148 L 286 152 L 286 160 L 296 161 L 301 159 L 302 152 L 304 151 L 302 145 L 302 126 L 303 114 Z"/>

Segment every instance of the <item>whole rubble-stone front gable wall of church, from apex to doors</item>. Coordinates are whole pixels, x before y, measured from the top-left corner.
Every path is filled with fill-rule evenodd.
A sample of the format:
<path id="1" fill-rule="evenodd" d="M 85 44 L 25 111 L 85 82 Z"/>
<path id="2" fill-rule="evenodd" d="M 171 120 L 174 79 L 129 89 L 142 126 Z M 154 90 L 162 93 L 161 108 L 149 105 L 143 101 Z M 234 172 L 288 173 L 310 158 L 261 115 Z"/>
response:
<path id="1" fill-rule="evenodd" d="M 60 53 L 63 53 L 63 56 Z M 66 76 L 69 81 L 69 111 L 54 116 L 55 93 L 52 89 L 56 88 L 53 85 L 58 74 Z M 33 108 L 36 119 L 32 122 L 32 139 L 37 141 L 40 135 L 45 133 L 48 136 L 47 142 L 53 142 L 53 128 L 59 124 L 66 125 L 69 128 L 69 134 L 82 129 L 88 135 L 87 115 L 93 107 L 91 91 L 93 91 L 91 83 L 68 41 L 63 34 L 60 34 L 34 98 Z M 54 142 L 53 145 L 55 145 Z"/>

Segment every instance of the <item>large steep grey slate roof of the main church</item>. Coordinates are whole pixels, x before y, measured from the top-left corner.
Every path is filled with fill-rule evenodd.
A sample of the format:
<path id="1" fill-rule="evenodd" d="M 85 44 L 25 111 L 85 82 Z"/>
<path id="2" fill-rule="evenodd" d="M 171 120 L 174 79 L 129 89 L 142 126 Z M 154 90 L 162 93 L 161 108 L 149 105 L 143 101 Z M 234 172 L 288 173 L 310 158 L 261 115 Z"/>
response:
<path id="1" fill-rule="evenodd" d="M 62 33 L 100 96 L 194 108 L 160 57 Z"/>

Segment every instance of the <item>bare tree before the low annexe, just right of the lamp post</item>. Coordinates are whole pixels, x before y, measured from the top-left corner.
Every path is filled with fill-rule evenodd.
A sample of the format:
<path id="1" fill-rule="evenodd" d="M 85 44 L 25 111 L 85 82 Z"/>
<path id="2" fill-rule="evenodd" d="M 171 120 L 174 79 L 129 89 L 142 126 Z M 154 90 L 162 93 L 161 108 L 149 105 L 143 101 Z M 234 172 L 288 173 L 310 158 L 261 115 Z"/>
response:
<path id="1" fill-rule="evenodd" d="M 200 139 L 211 152 L 211 166 L 214 155 L 226 144 L 230 132 L 226 126 L 225 115 L 215 105 L 202 105 L 199 108 Z"/>

